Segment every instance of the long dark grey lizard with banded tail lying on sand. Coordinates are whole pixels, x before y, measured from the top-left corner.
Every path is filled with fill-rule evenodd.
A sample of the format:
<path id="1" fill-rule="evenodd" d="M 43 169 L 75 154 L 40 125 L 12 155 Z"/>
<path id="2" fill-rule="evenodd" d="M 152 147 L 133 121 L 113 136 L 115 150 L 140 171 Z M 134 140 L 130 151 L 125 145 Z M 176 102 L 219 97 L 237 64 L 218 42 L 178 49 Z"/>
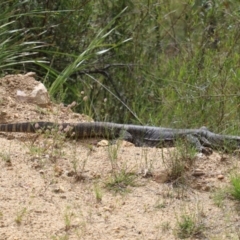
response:
<path id="1" fill-rule="evenodd" d="M 79 138 L 101 137 L 107 139 L 121 138 L 136 146 L 163 147 L 174 146 L 179 139 L 185 139 L 195 146 L 199 152 L 208 154 L 211 149 L 240 148 L 240 136 L 221 135 L 209 131 L 206 127 L 199 129 L 173 129 L 108 122 L 62 123 L 23 122 L 0 124 L 2 132 L 46 131 L 56 128 L 66 132 L 67 136 Z"/>

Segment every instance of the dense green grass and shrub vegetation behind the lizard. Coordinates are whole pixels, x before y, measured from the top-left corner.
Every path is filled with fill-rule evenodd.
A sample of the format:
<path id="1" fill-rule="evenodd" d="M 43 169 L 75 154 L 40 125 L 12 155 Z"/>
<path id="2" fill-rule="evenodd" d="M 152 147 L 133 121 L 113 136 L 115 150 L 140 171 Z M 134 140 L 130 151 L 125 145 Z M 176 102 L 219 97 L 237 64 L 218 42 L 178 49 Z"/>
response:
<path id="1" fill-rule="evenodd" d="M 236 0 L 5 0 L 1 75 L 95 120 L 240 134 Z"/>

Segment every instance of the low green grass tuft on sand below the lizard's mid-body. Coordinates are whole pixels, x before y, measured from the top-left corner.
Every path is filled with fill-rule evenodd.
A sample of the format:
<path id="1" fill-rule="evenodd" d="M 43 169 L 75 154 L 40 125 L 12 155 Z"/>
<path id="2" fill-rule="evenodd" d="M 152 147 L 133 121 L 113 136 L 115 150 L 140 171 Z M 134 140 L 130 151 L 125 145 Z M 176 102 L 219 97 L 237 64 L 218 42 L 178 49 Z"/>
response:
<path id="1" fill-rule="evenodd" d="M 113 172 L 105 186 L 108 190 L 112 190 L 115 193 L 125 193 L 129 191 L 128 186 L 136 186 L 136 178 L 134 173 L 121 169 L 119 172 Z"/>

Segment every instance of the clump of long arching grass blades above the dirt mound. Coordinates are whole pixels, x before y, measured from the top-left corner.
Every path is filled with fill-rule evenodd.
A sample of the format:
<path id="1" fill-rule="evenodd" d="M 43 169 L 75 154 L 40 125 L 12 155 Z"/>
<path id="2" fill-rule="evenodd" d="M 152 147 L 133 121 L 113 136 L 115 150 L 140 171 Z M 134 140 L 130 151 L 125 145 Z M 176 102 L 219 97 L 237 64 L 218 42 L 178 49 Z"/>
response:
<path id="1" fill-rule="evenodd" d="M 16 27 L 21 8 L 20 1 L 0 3 L 0 70 L 1 75 L 8 72 L 26 70 L 26 64 L 45 62 L 37 51 L 46 46 L 38 39 L 33 40 L 29 29 Z"/>

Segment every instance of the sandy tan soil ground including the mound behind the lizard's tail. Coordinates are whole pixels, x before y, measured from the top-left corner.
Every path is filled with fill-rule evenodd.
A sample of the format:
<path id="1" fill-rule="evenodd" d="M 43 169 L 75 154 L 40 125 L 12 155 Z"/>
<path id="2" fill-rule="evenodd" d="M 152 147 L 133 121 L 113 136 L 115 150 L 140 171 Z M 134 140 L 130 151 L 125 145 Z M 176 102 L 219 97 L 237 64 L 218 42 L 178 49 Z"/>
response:
<path id="1" fill-rule="evenodd" d="M 1 123 L 91 120 L 70 106 L 41 108 L 16 100 L 18 89 L 31 92 L 36 84 L 31 74 L 0 80 Z M 204 225 L 189 239 L 239 239 L 236 201 L 225 197 L 217 205 L 214 198 L 229 186 L 239 157 L 216 152 L 197 156 L 185 166 L 185 182 L 175 186 L 179 179 L 169 182 L 168 172 L 178 150 L 97 142 L 1 133 L 1 240 L 178 239 L 177 222 L 183 215 Z M 106 188 L 121 172 L 131 173 L 135 185 L 120 183 L 118 193 Z"/>

